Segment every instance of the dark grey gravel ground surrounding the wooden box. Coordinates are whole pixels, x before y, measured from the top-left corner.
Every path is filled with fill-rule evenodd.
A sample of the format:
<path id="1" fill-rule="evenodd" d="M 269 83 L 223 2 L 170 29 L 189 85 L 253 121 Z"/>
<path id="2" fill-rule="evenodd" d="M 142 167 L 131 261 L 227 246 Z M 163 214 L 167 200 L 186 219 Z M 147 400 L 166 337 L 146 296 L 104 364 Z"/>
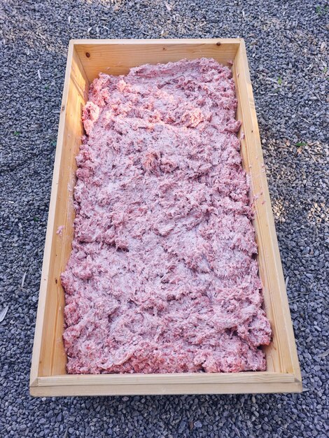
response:
<path id="1" fill-rule="evenodd" d="M 0 436 L 328 436 L 325 2 L 4 0 L 0 8 L 0 310 L 9 306 L 0 324 Z M 304 392 L 29 397 L 69 39 L 236 36 L 246 39 Z"/>

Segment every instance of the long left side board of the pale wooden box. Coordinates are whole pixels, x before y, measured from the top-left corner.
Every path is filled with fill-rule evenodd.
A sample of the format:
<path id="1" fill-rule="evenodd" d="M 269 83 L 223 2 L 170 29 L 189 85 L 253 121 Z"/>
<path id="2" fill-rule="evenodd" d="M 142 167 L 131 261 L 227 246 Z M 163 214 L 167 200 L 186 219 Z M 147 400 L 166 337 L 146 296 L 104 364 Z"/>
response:
<path id="1" fill-rule="evenodd" d="M 36 337 L 41 337 L 41 345 L 38 345 L 40 357 L 38 358 L 37 350 L 34 351 L 33 356 L 38 376 L 66 373 L 66 355 L 62 340 L 64 292 L 60 284 L 60 274 L 71 253 L 75 157 L 80 146 L 80 136 L 83 134 L 80 119 L 85 99 L 87 99 L 88 86 L 89 82 L 80 64 L 80 59 L 73 45 L 70 45 L 39 295 L 39 305 L 42 307 L 38 309 L 36 324 Z M 61 234 L 57 234 L 59 227 L 63 227 Z"/>

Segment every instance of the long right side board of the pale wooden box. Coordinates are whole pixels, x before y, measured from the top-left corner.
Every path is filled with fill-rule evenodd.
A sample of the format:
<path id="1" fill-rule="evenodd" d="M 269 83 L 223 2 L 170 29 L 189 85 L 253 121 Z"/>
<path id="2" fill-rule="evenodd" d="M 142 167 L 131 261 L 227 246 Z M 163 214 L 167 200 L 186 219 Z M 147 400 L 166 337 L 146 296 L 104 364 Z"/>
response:
<path id="1" fill-rule="evenodd" d="M 265 310 L 273 330 L 273 341 L 265 348 L 267 369 L 291 373 L 301 380 L 244 42 L 235 57 L 233 70 L 239 100 L 237 117 L 242 121 L 239 135 L 244 135 L 241 155 L 251 177 L 260 278 Z"/>

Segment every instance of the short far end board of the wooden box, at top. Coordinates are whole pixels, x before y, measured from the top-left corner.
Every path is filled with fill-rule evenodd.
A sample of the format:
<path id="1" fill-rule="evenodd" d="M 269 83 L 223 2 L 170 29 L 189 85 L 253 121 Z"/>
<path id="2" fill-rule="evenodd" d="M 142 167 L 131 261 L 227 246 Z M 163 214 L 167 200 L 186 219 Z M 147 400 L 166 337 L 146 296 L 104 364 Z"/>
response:
<path id="1" fill-rule="evenodd" d="M 200 57 L 215 58 L 228 65 L 235 59 L 239 48 L 237 40 L 118 40 L 94 44 L 76 42 L 88 80 L 92 82 L 100 71 L 111 75 L 127 74 L 129 69 L 141 64 L 175 62 L 180 59 Z"/>

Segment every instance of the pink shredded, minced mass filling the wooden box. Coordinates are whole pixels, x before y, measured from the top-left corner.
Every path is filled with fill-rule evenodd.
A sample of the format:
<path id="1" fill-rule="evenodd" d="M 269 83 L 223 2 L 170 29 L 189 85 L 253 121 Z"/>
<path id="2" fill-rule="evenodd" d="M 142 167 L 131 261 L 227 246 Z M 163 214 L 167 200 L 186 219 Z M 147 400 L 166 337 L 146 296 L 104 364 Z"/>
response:
<path id="1" fill-rule="evenodd" d="M 67 372 L 266 369 L 236 106 L 232 73 L 214 59 L 90 86 L 62 274 Z"/>

